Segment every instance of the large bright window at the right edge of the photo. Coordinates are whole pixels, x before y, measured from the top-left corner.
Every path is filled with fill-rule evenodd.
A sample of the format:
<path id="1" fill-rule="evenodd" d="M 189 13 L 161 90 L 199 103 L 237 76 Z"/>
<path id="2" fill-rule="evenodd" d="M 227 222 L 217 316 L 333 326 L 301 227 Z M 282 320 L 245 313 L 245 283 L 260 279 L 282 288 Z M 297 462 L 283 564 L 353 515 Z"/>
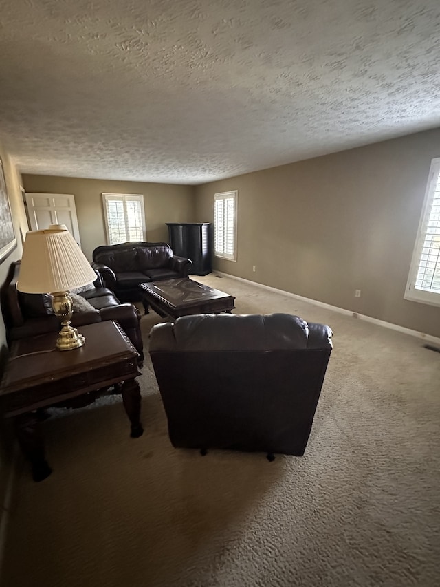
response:
<path id="1" fill-rule="evenodd" d="M 431 163 L 405 299 L 440 306 L 440 158 Z"/>

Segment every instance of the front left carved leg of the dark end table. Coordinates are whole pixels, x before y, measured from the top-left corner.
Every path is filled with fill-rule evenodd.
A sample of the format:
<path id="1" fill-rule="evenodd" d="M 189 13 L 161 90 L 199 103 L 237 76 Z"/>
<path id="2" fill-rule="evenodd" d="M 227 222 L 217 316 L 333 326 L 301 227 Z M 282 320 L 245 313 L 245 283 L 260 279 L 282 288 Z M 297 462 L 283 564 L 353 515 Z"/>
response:
<path id="1" fill-rule="evenodd" d="M 15 418 L 15 431 L 24 456 L 30 461 L 32 478 L 43 481 L 50 476 L 52 469 L 47 465 L 44 451 L 44 438 L 39 414 L 28 412 Z"/>

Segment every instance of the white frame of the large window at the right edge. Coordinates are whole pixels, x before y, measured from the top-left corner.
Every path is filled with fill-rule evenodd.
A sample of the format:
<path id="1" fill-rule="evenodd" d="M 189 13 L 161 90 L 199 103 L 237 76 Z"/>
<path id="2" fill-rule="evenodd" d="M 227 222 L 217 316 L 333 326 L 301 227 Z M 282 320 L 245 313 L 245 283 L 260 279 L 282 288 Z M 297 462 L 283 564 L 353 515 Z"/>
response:
<path id="1" fill-rule="evenodd" d="M 414 284 L 422 261 L 421 255 L 423 254 L 423 244 L 425 243 L 425 238 L 428 234 L 428 220 L 434 206 L 434 195 L 437 185 L 440 185 L 440 158 L 435 158 L 431 161 L 423 207 L 421 209 L 419 228 L 417 229 L 417 237 L 412 253 L 410 271 L 404 294 L 404 299 L 417 301 L 419 303 L 427 303 L 430 306 L 440 306 L 440 292 L 421 290 L 415 288 Z"/>

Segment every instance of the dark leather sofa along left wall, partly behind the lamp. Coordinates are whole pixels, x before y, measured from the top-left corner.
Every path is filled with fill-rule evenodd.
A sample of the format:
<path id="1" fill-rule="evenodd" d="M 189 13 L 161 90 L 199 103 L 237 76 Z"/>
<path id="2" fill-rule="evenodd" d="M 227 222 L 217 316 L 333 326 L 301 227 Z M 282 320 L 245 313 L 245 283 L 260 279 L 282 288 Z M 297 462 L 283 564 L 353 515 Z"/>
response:
<path id="1" fill-rule="evenodd" d="M 27 294 L 17 290 L 19 272 L 20 262 L 12 263 L 0 288 L 1 311 L 8 345 L 16 339 L 45 334 L 61 328 L 60 321 L 54 315 L 50 295 Z M 139 365 L 142 365 L 144 344 L 140 332 L 139 310 L 131 303 L 120 303 L 111 290 L 104 288 L 98 273 L 93 285 L 93 289 L 80 292 L 93 309 L 74 311 L 72 325 L 79 328 L 103 320 L 117 321 L 139 353 Z"/>

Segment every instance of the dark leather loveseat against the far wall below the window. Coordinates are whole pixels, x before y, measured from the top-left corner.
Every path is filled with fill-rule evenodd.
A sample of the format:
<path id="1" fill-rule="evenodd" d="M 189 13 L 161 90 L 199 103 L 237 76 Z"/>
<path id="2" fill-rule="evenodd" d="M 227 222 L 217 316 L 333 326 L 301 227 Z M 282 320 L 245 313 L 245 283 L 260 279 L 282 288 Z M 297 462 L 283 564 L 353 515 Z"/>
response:
<path id="1" fill-rule="evenodd" d="M 122 301 L 142 301 L 139 284 L 188 277 L 192 261 L 177 257 L 166 242 L 126 242 L 98 246 L 92 266 Z"/>

